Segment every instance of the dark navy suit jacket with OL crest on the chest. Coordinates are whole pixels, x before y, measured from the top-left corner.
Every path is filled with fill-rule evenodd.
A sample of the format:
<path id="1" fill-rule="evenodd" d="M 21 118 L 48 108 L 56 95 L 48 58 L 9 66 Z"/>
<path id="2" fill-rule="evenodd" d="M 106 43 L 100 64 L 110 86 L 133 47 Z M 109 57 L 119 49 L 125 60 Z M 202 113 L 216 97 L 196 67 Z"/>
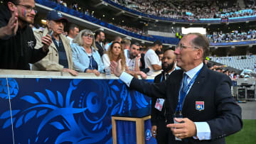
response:
<path id="1" fill-rule="evenodd" d="M 183 70 L 176 70 L 164 82 L 150 84 L 132 79 L 129 87 L 150 97 L 166 99 L 166 120 L 167 123 L 174 123 L 174 112 L 178 104 L 182 77 Z M 210 126 L 211 140 L 186 138 L 178 142 L 170 132 L 169 143 L 224 144 L 225 136 L 240 131 L 242 111 L 231 94 L 230 86 L 231 80 L 228 76 L 209 70 L 206 65 L 203 65 L 184 100 L 182 114 L 184 118 L 194 122 L 207 122 Z M 202 111 L 196 110 L 196 101 L 204 102 Z"/>

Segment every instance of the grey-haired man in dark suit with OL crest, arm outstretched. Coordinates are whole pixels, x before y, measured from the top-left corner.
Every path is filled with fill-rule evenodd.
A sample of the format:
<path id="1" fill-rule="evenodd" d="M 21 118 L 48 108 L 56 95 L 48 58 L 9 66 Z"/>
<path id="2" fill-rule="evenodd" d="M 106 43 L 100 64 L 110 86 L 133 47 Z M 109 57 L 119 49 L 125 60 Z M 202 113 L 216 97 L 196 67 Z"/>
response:
<path id="1" fill-rule="evenodd" d="M 175 50 L 181 70 L 172 72 L 169 79 L 157 84 L 122 72 L 120 61 L 111 63 L 114 74 L 130 88 L 150 97 L 166 99 L 169 143 L 224 144 L 225 136 L 242 128 L 241 108 L 231 95 L 230 78 L 203 65 L 208 52 L 205 35 L 184 35 Z"/>

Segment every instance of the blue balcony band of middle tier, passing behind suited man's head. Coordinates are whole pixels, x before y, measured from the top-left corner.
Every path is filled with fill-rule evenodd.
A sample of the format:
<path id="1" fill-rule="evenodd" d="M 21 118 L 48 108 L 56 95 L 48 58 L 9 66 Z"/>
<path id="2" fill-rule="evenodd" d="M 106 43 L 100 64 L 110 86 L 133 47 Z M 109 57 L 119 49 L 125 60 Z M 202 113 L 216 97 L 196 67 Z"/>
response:
<path id="1" fill-rule="evenodd" d="M 109 31 L 110 33 L 115 33 L 115 35 L 122 35 L 131 37 L 134 40 L 141 40 L 144 42 L 152 43 L 155 40 L 161 40 L 162 43 L 166 45 L 177 45 L 179 39 L 178 38 L 166 38 L 163 36 L 156 36 L 151 35 L 139 35 L 137 33 L 133 33 L 131 31 L 127 31 L 123 28 L 118 26 L 114 26 L 110 23 L 106 23 L 97 19 L 95 17 L 86 15 L 85 13 L 81 13 L 79 11 L 75 11 L 74 9 L 69 9 L 63 5 L 57 4 L 50 0 L 36 0 L 36 6 L 40 7 L 41 9 L 45 9 L 47 11 L 51 9 L 55 9 L 58 11 L 62 11 L 64 16 L 67 16 L 69 20 L 72 20 L 73 23 L 82 23 L 82 26 L 86 26 L 87 28 L 97 29 L 97 28 L 104 28 L 105 31 Z M 256 40 L 246 40 L 240 42 L 228 42 L 228 43 L 210 43 L 211 46 L 223 46 L 223 45 L 256 45 Z"/>

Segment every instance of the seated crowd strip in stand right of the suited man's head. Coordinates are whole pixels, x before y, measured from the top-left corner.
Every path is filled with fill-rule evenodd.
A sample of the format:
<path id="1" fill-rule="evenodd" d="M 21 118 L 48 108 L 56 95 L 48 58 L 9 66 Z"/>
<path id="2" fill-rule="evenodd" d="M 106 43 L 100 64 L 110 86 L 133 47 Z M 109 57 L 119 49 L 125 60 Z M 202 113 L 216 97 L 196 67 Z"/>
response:
<path id="1" fill-rule="evenodd" d="M 232 42 L 238 40 L 255 40 L 256 30 L 250 29 L 249 31 L 232 31 L 230 33 L 213 32 L 207 35 L 212 43 Z"/>

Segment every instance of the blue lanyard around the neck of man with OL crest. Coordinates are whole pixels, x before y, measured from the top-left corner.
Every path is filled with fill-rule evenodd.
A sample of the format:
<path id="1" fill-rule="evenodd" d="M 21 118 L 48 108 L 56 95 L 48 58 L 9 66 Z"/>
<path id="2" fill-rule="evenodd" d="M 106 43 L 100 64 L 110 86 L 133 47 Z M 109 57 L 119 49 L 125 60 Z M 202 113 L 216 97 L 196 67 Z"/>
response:
<path id="1" fill-rule="evenodd" d="M 201 71 L 201 69 L 196 72 L 196 75 L 193 77 L 193 79 L 191 79 L 191 81 L 189 82 L 189 84 L 185 87 L 185 91 L 182 91 L 182 87 L 179 91 L 179 99 L 178 99 L 178 106 L 176 107 L 176 112 L 181 113 L 182 111 L 182 107 L 183 107 L 183 103 L 184 103 L 184 99 L 186 98 L 186 95 L 188 93 L 188 89 L 191 87 L 191 85 L 195 82 L 196 77 L 198 76 L 199 72 Z M 184 79 L 183 79 L 184 80 Z M 182 81 L 183 82 L 183 81 Z"/>

